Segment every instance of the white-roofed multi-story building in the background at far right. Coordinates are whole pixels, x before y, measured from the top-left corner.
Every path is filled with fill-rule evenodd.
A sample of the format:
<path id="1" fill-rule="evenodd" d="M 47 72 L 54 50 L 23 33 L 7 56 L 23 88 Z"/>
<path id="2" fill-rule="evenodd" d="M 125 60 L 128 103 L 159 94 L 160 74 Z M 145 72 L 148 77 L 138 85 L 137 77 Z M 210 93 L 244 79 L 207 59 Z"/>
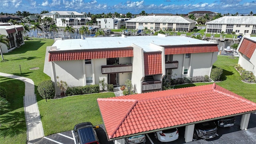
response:
<path id="1" fill-rule="evenodd" d="M 223 16 L 206 22 L 206 33 L 256 34 L 256 16 Z"/>

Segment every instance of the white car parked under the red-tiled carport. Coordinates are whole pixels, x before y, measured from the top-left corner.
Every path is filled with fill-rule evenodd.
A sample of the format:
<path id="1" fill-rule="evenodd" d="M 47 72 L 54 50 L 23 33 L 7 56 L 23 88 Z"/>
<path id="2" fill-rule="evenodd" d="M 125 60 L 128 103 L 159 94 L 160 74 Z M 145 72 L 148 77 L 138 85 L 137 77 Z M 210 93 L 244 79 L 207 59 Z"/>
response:
<path id="1" fill-rule="evenodd" d="M 177 128 L 154 132 L 154 135 L 155 138 L 160 142 L 171 142 L 179 138 L 179 132 Z"/>

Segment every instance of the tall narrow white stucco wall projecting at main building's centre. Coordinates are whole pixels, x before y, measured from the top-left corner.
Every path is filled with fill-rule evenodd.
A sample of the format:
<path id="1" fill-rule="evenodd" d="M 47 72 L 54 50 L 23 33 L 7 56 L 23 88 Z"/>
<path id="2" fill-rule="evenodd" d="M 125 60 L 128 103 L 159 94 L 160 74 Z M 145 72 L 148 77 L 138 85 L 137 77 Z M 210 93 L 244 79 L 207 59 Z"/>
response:
<path id="1" fill-rule="evenodd" d="M 145 76 L 144 72 L 144 53 L 139 46 L 132 44 L 133 60 L 132 60 L 132 85 L 136 93 L 141 93 L 141 83 Z"/>

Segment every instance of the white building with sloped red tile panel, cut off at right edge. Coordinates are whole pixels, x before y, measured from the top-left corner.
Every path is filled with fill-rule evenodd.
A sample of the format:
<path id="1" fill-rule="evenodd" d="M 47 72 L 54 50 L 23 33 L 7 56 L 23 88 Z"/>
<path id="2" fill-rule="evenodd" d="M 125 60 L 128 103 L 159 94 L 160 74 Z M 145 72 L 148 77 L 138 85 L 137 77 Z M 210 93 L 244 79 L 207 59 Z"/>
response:
<path id="1" fill-rule="evenodd" d="M 244 36 L 236 51 L 240 55 L 238 64 L 256 76 L 256 37 Z"/>

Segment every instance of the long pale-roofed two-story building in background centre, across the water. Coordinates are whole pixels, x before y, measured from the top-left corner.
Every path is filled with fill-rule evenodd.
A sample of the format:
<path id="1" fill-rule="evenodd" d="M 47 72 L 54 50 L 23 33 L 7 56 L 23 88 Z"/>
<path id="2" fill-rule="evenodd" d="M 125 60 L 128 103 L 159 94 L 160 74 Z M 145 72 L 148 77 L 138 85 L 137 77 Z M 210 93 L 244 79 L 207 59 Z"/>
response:
<path id="1" fill-rule="evenodd" d="M 139 16 L 126 21 L 128 29 L 148 29 L 158 31 L 182 31 L 188 32 L 196 26 L 196 21 L 182 16 Z"/>

